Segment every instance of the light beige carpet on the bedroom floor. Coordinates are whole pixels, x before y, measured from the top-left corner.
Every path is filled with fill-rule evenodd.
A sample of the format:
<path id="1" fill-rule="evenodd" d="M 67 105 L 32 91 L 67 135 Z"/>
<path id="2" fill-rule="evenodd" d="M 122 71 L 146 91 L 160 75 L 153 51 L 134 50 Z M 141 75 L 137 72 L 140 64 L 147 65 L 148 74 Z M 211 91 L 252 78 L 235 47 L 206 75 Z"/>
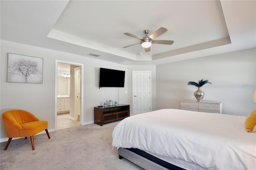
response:
<path id="1" fill-rule="evenodd" d="M 112 132 L 120 121 L 76 126 L 12 140 L 7 150 L 1 142 L 1 170 L 141 170 L 126 159 L 118 158 L 112 148 Z"/>

